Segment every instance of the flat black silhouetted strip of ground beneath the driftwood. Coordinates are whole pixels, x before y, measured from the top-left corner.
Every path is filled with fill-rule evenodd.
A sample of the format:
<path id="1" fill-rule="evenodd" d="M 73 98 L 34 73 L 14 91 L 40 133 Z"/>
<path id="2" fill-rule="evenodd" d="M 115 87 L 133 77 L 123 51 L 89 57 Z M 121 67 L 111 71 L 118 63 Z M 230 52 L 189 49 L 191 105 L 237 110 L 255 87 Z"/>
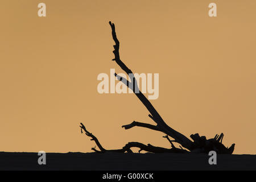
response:
<path id="1" fill-rule="evenodd" d="M 256 170 L 256 155 L 217 155 L 209 165 L 206 154 L 96 154 L 0 152 L 0 170 Z"/>

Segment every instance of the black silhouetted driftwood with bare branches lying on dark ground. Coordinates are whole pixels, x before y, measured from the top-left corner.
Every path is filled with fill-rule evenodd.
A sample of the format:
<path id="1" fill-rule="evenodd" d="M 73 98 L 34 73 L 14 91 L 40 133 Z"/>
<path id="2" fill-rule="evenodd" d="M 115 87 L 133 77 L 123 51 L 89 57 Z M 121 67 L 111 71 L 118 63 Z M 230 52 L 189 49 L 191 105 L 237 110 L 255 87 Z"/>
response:
<path id="1" fill-rule="evenodd" d="M 92 148 L 95 152 L 132 152 L 131 147 L 137 147 L 140 148 L 140 151 L 147 151 L 152 153 L 187 153 L 187 152 L 200 152 L 200 153 L 208 153 L 209 151 L 216 151 L 218 154 L 232 154 L 234 151 L 234 145 L 232 144 L 231 147 L 225 147 L 224 144 L 222 144 L 222 139 L 224 137 L 224 134 L 216 135 L 212 139 L 207 139 L 206 137 L 202 136 L 200 137 L 199 134 L 192 134 L 190 135 L 189 139 L 185 137 L 183 134 L 179 133 L 178 131 L 172 129 L 170 126 L 166 124 L 166 122 L 163 121 L 162 117 L 158 113 L 158 111 L 155 110 L 154 106 L 152 106 L 151 102 L 148 101 L 148 99 L 144 96 L 144 94 L 139 90 L 137 85 L 137 80 L 135 79 L 133 72 L 131 69 L 129 69 L 123 61 L 120 59 L 119 56 L 119 40 L 117 39 L 117 35 L 115 33 L 115 25 L 112 22 L 109 22 L 111 28 L 112 28 L 112 37 L 115 42 L 114 45 L 114 59 L 115 63 L 119 65 L 119 67 L 127 73 L 131 81 L 126 80 L 126 78 L 121 77 L 115 73 L 115 77 L 118 78 L 119 81 L 122 81 L 123 84 L 125 84 L 128 88 L 133 90 L 134 94 L 139 98 L 139 100 L 142 102 L 142 104 L 147 108 L 148 117 L 150 117 L 156 125 L 151 125 L 148 123 L 142 123 L 133 121 L 132 123 L 128 125 L 123 125 L 122 127 L 126 130 L 131 129 L 132 127 L 138 126 L 138 127 L 145 127 L 147 129 L 160 131 L 165 134 L 164 138 L 167 138 L 167 140 L 171 144 L 171 148 L 162 148 L 162 147 L 155 147 L 151 144 L 142 144 L 139 142 L 129 142 L 127 143 L 123 148 L 118 150 L 106 150 L 103 148 L 98 141 L 98 139 L 92 134 L 89 133 L 88 130 L 86 130 L 85 126 L 81 123 L 81 132 L 84 130 L 85 134 L 88 137 L 91 137 L 91 140 L 94 140 L 96 142 L 98 148 L 100 148 L 100 151 L 96 150 L 96 147 Z M 174 140 L 171 140 L 169 137 L 173 138 Z M 180 148 L 176 148 L 174 146 L 175 143 L 180 144 Z M 184 149 L 184 148 L 185 149 Z"/>

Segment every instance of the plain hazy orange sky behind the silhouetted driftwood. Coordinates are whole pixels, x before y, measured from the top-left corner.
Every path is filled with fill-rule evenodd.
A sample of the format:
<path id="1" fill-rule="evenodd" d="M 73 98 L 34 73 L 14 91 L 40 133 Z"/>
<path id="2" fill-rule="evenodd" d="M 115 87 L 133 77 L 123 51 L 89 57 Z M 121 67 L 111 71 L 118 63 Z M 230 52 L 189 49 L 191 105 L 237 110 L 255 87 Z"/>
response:
<path id="1" fill-rule="evenodd" d="M 39 18 L 38 3 L 47 6 Z M 210 2 L 217 17 L 208 16 Z M 109 20 L 121 59 L 135 73 L 159 73 L 163 119 L 187 137 L 224 133 L 234 154 L 256 154 L 256 1 L 0 2 L 0 151 L 89 152 L 138 141 L 169 147 L 163 134 L 124 130 L 151 123 L 134 94 L 99 94 L 113 61 Z"/>

